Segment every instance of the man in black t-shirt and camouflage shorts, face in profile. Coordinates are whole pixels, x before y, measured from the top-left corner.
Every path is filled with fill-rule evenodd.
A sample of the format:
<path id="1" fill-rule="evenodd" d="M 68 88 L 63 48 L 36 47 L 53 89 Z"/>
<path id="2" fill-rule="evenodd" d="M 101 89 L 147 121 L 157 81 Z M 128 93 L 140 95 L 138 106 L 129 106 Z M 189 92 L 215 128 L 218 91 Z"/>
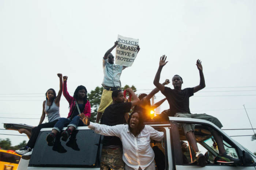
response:
<path id="1" fill-rule="evenodd" d="M 101 124 L 114 126 L 126 123 L 125 114 L 133 106 L 139 103 L 139 98 L 131 88 L 126 89 L 133 101 L 124 102 L 124 93 L 122 90 L 114 90 L 112 93 L 113 104 L 109 105 L 101 118 Z M 124 161 L 122 160 L 122 142 L 116 136 L 104 136 L 102 140 L 101 169 L 120 169 L 124 170 Z"/>

